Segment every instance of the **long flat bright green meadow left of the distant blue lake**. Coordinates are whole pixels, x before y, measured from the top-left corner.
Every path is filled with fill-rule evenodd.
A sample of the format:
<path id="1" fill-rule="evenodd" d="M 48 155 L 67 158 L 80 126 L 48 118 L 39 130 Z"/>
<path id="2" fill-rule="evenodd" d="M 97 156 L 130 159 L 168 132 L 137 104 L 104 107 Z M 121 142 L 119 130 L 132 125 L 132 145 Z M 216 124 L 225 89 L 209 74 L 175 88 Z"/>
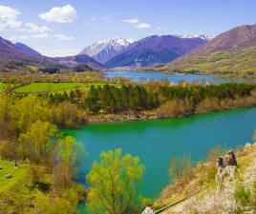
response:
<path id="1" fill-rule="evenodd" d="M 16 88 L 14 91 L 18 93 L 38 93 L 38 92 L 54 92 L 69 91 L 74 89 L 88 89 L 92 85 L 96 87 L 104 86 L 104 84 L 87 84 L 87 83 L 33 83 L 25 87 Z"/>

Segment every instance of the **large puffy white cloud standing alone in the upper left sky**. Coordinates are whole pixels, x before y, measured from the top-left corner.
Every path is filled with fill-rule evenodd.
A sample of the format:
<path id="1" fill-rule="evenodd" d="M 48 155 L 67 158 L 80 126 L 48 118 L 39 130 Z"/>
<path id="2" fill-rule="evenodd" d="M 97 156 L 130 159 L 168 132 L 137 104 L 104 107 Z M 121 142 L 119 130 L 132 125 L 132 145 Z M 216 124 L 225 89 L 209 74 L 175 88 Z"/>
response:
<path id="1" fill-rule="evenodd" d="M 55 7 L 51 10 L 39 14 L 39 17 L 47 22 L 68 23 L 77 18 L 76 10 L 71 5 L 61 8 Z"/>

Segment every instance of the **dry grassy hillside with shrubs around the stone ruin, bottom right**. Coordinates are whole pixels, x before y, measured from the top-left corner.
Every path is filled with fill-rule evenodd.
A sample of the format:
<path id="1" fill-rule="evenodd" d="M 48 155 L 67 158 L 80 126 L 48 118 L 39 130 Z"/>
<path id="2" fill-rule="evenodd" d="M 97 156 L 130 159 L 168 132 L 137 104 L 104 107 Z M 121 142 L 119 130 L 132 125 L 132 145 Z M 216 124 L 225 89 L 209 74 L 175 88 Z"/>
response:
<path id="1" fill-rule="evenodd" d="M 198 165 L 194 169 L 196 173 L 194 179 L 186 182 L 186 184 L 167 186 L 162 192 L 160 200 L 154 204 L 154 207 L 158 209 L 166 204 L 172 204 L 184 196 L 200 190 L 191 197 L 181 201 L 181 203 L 167 208 L 162 213 L 253 213 L 244 212 L 244 209 L 251 210 L 251 204 L 247 204 L 246 207 L 244 204 L 241 204 L 241 200 L 246 192 L 241 192 L 240 190 L 241 186 L 244 186 L 245 189 L 253 191 L 253 184 L 256 186 L 256 146 L 240 146 L 236 151 L 236 155 L 238 166 L 233 179 L 226 177 L 223 182 L 218 183 L 215 178 L 217 173 L 215 164 L 204 163 Z M 210 179 L 208 175 L 211 175 Z M 239 197 L 237 197 L 238 192 Z M 254 193 L 253 195 L 252 193 L 250 197 L 256 199 L 256 194 Z M 249 199 L 247 199 L 248 202 Z"/>

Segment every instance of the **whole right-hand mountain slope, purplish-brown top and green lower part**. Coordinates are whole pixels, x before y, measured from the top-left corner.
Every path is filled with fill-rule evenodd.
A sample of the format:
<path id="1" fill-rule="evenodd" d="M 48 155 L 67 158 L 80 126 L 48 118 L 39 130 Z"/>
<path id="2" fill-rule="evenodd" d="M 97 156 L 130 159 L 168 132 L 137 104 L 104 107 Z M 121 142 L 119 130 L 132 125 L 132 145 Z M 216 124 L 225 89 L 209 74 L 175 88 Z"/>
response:
<path id="1" fill-rule="evenodd" d="M 256 72 L 255 59 L 256 25 L 242 26 L 225 31 L 162 68 L 243 75 Z"/>

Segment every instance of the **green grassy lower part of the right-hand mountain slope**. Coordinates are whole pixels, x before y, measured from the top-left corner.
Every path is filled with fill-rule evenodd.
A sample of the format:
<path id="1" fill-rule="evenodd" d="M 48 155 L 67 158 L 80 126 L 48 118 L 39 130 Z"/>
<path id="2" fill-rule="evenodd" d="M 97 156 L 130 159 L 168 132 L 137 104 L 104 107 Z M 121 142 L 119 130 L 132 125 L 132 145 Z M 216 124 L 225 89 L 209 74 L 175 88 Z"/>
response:
<path id="1" fill-rule="evenodd" d="M 239 76 L 256 75 L 256 47 L 224 50 L 206 54 L 199 58 L 187 58 L 167 65 L 166 69 L 184 72 L 205 72 L 233 74 Z"/>

